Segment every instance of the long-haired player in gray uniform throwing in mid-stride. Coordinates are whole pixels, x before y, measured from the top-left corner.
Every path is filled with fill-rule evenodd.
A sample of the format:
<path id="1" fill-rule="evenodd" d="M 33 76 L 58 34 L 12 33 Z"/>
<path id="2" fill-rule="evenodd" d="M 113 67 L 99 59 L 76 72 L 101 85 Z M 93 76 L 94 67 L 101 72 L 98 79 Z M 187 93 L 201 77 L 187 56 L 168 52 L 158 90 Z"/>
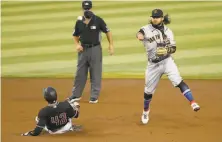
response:
<path id="1" fill-rule="evenodd" d="M 163 74 L 166 74 L 175 87 L 180 88 L 182 94 L 190 102 L 194 111 L 200 106 L 194 101 L 191 90 L 183 81 L 171 54 L 176 51 L 173 32 L 166 26 L 170 23 L 168 15 L 163 16 L 161 9 L 152 11 L 150 24 L 143 26 L 137 33 L 137 39 L 143 42 L 148 56 L 145 74 L 144 109 L 142 123 L 149 121 L 150 102 L 157 84 Z"/>

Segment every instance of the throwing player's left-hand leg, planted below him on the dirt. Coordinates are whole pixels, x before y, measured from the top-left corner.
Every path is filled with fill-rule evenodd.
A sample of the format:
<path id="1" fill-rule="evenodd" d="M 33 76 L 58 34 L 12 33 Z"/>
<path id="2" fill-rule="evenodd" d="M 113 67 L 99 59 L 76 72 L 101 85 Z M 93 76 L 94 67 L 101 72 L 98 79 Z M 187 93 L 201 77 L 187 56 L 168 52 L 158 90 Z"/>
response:
<path id="1" fill-rule="evenodd" d="M 157 88 L 158 82 L 163 74 L 159 64 L 148 65 L 145 72 L 145 88 L 144 88 L 144 107 L 141 117 L 142 123 L 147 124 L 149 121 L 150 102 Z"/>

